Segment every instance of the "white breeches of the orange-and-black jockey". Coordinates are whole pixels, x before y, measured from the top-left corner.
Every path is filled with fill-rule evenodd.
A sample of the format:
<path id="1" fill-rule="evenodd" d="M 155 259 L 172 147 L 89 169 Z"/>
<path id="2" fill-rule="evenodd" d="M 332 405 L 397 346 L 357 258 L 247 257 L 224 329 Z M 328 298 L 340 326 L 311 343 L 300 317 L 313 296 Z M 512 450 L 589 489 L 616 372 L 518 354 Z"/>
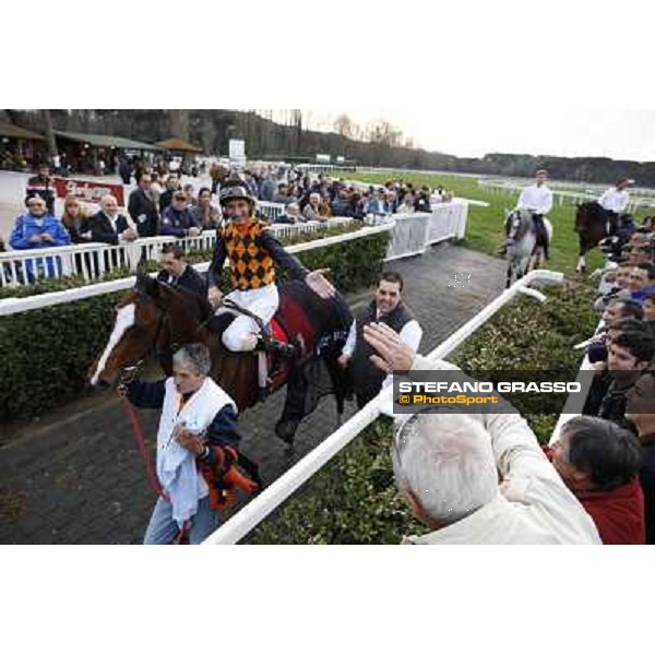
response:
<path id="1" fill-rule="evenodd" d="M 264 323 L 269 323 L 279 306 L 277 286 L 269 284 L 259 289 L 230 291 L 226 299 L 234 300 L 239 307 L 247 309 L 259 317 Z M 227 307 L 219 307 L 216 315 L 225 312 L 236 313 L 237 318 L 223 333 L 223 344 L 228 350 L 240 353 L 252 350 L 257 345 L 257 335 L 260 333 L 259 325 L 250 317 L 246 317 Z"/>

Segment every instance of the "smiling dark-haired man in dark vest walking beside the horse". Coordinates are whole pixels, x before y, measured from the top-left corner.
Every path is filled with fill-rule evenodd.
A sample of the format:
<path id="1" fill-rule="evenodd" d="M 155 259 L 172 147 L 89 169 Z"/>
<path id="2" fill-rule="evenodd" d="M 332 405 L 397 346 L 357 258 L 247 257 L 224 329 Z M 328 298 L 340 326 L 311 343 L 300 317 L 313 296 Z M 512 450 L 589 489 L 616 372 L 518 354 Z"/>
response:
<path id="1" fill-rule="evenodd" d="M 414 350 L 418 349 L 422 330 L 403 302 L 403 278 L 400 273 L 386 271 L 380 275 L 376 297 L 356 314 L 338 359 L 342 367 L 350 367 L 357 406 L 360 409 L 392 382 L 391 374 L 381 371 L 370 360 L 376 350 L 364 340 L 364 326 L 370 323 L 385 323 L 400 334 L 404 343 Z"/>

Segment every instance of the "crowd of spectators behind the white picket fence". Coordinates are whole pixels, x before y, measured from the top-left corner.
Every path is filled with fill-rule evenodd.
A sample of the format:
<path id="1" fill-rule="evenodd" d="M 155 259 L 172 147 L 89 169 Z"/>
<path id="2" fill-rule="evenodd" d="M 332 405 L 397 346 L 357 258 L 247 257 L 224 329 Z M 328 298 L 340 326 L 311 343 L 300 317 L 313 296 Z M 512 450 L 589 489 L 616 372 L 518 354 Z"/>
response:
<path id="1" fill-rule="evenodd" d="M 75 196 L 64 200 L 63 213 L 55 216 L 55 191 L 50 168 L 41 166 L 38 176 L 32 178 L 26 189 L 27 212 L 16 218 L 9 245 L 19 250 L 45 246 L 87 243 L 92 241 L 116 245 L 136 238 L 154 236 L 198 236 L 202 230 L 216 229 L 222 223 L 222 213 L 215 202 L 221 184 L 238 177 L 254 198 L 262 202 L 284 205 L 284 212 L 275 223 L 296 224 L 310 221 L 327 222 L 333 216 L 366 219 L 370 216 L 386 216 L 396 213 L 429 212 L 437 202 L 448 202 L 451 195 L 441 187 L 432 191 L 428 187 L 415 187 L 403 180 L 391 180 L 384 186 L 355 187 L 343 179 L 323 174 L 311 177 L 307 170 L 285 168 L 276 164 L 260 164 L 252 169 L 237 170 L 221 165 L 210 168 L 211 186 L 195 192 L 192 183 L 182 184 L 177 171 L 158 165 L 146 168 L 138 162 L 121 160 L 119 172 L 126 179 L 133 176 L 138 187 L 129 196 L 127 212 L 119 212 L 116 199 L 107 195 L 100 200 L 99 211 L 86 215 L 84 205 Z M 39 196 L 46 202 L 46 214 L 41 218 L 31 213 L 29 200 Z M 34 231 L 61 228 L 67 239 L 25 240 L 21 229 L 25 223 Z"/>

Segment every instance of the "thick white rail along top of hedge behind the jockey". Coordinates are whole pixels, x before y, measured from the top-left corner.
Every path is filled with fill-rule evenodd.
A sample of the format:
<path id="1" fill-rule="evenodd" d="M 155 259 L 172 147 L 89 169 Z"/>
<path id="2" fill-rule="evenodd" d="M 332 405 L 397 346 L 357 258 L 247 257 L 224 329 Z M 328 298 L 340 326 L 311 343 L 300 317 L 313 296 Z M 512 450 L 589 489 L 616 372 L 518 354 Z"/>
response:
<path id="1" fill-rule="evenodd" d="M 306 243 L 296 243 L 295 246 L 287 246 L 285 250 L 287 252 L 290 252 L 291 254 L 296 254 L 298 252 L 305 252 L 307 250 L 314 250 L 317 248 L 326 248 L 329 246 L 335 246 L 336 243 L 344 243 L 354 239 L 364 239 L 374 234 L 391 230 L 393 229 L 393 223 L 380 225 L 377 227 L 364 227 L 356 231 L 347 233 L 345 235 L 323 237 L 322 239 L 307 241 Z M 228 262 L 226 262 L 225 265 L 227 266 Z M 210 262 L 194 264 L 193 267 L 200 273 L 204 273 L 210 267 Z M 155 275 L 155 273 L 153 273 L 152 275 Z M 123 277 L 121 279 L 114 279 L 111 282 L 100 282 L 98 284 L 66 289 L 63 291 L 38 294 L 35 296 L 27 296 L 25 298 L 0 299 L 0 317 L 20 313 L 23 311 L 29 311 L 33 309 L 43 309 L 44 307 L 62 305 L 64 302 L 73 302 L 75 300 L 83 300 L 85 298 L 92 298 L 94 296 L 112 294 L 115 291 L 122 291 L 134 286 L 135 281 L 136 278 L 134 276 L 131 276 Z"/>

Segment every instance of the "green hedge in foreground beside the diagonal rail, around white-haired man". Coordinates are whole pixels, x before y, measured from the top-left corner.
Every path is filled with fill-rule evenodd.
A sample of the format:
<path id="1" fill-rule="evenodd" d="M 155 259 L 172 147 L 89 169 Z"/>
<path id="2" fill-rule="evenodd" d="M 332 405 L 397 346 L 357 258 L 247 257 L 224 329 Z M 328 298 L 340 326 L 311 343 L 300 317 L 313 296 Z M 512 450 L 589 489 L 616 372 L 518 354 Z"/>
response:
<path id="1" fill-rule="evenodd" d="M 477 370 L 552 369 L 576 371 L 575 343 L 594 333 L 595 289 L 567 285 L 545 289 L 548 302 L 520 298 L 471 336 L 449 359 Z M 517 357 L 517 354 L 519 357 Z M 529 360 L 529 367 L 525 362 Z M 556 414 L 524 414 L 546 442 Z M 398 544 L 425 528 L 400 500 L 390 449 L 392 421 L 379 418 L 247 537 L 251 544 Z"/>

